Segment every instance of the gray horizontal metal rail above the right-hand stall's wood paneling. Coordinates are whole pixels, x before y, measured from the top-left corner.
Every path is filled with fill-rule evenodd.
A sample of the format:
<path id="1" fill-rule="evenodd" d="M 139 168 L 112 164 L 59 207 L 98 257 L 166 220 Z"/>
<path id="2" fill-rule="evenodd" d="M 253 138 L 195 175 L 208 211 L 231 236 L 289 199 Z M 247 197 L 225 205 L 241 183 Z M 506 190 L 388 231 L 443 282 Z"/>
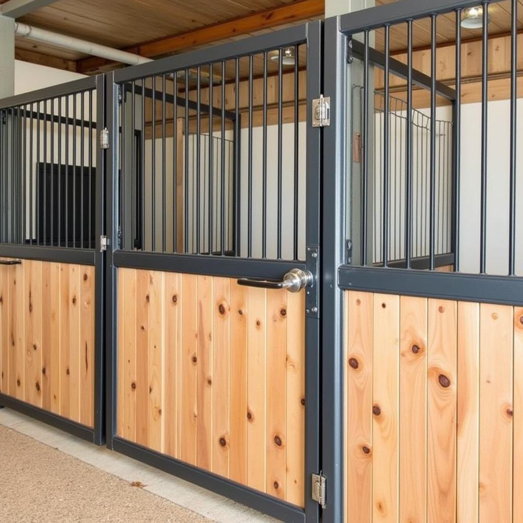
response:
<path id="1" fill-rule="evenodd" d="M 339 288 L 448 300 L 523 305 L 523 278 L 413 269 L 339 268 Z"/>

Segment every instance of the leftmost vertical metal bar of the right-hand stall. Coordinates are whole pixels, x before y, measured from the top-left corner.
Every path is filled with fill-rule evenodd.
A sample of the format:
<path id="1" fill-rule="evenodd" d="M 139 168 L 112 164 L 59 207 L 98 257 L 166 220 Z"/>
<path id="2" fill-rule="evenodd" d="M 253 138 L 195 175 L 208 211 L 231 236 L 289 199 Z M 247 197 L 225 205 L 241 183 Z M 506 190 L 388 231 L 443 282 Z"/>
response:
<path id="1" fill-rule="evenodd" d="M 361 121 L 361 133 L 363 135 L 363 157 L 361 169 L 361 265 L 366 266 L 367 260 L 367 206 L 369 190 L 369 115 L 370 115 L 370 95 L 369 95 L 369 31 L 365 31 L 365 51 L 363 53 L 363 110 Z"/>

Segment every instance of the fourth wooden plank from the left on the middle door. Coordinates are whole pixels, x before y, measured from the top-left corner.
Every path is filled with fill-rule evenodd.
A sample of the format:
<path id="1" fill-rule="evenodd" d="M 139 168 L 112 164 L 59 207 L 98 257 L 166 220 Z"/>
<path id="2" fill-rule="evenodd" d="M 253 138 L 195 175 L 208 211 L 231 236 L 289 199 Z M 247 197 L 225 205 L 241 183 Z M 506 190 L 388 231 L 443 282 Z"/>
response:
<path id="1" fill-rule="evenodd" d="M 165 273 L 164 452 L 179 457 L 179 400 L 181 352 L 181 278 Z"/>

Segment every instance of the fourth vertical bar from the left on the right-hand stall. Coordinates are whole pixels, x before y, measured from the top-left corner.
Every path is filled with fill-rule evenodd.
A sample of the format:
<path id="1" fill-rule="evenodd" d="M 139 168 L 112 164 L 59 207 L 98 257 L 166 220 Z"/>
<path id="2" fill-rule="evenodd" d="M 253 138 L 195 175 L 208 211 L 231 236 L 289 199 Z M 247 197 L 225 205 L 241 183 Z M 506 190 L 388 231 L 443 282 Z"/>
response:
<path id="1" fill-rule="evenodd" d="M 436 15 L 430 17 L 430 203 L 429 203 L 429 269 L 435 268 L 436 230 Z"/>

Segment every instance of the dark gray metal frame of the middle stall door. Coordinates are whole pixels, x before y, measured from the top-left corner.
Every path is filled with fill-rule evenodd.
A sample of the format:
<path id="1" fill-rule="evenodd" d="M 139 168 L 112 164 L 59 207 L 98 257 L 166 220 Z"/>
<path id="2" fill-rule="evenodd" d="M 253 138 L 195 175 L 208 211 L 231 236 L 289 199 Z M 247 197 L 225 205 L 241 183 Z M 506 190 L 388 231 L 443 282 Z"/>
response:
<path id="1" fill-rule="evenodd" d="M 311 474 L 320 469 L 320 319 L 319 314 L 306 315 L 306 376 L 305 376 L 305 509 L 280 501 L 226 480 L 216 474 L 203 471 L 164 454 L 143 448 L 116 435 L 117 408 L 117 278 L 118 267 L 134 267 L 156 269 L 163 271 L 190 272 L 230 277 L 281 278 L 292 267 L 309 268 L 314 274 L 319 274 L 318 254 L 320 251 L 320 171 L 321 171 L 321 132 L 311 126 L 308 111 L 307 130 L 307 195 L 306 205 L 306 245 L 308 251 L 305 262 L 286 262 L 234 257 L 161 254 L 144 252 L 124 252 L 115 248 L 118 238 L 118 85 L 145 76 L 163 74 L 195 67 L 209 62 L 235 59 L 251 53 L 263 53 L 275 48 L 283 48 L 294 44 L 307 44 L 308 75 L 307 95 L 308 105 L 321 93 L 322 78 L 322 24 L 320 21 L 291 27 L 278 32 L 260 35 L 247 40 L 227 43 L 222 46 L 188 52 L 150 62 L 144 65 L 129 67 L 112 72 L 106 76 L 106 107 L 107 127 L 110 132 L 110 145 L 107 155 L 107 232 L 109 249 L 106 258 L 106 389 L 107 389 L 107 446 L 130 457 L 149 463 L 154 467 L 209 488 L 214 492 L 228 496 L 245 505 L 251 506 L 266 514 L 283 521 L 315 522 L 319 520 L 319 505 L 312 500 Z M 236 127 L 238 122 L 236 121 Z M 239 127 L 237 127 L 239 129 Z M 239 133 L 237 133 L 239 134 Z M 236 158 L 237 162 L 237 158 Z M 239 216 L 238 216 L 239 218 Z M 316 256 L 313 256 L 313 252 Z M 321 253 L 321 251 L 320 251 Z M 320 281 L 315 282 L 317 286 Z M 305 313 L 305 311 L 304 311 Z"/>

